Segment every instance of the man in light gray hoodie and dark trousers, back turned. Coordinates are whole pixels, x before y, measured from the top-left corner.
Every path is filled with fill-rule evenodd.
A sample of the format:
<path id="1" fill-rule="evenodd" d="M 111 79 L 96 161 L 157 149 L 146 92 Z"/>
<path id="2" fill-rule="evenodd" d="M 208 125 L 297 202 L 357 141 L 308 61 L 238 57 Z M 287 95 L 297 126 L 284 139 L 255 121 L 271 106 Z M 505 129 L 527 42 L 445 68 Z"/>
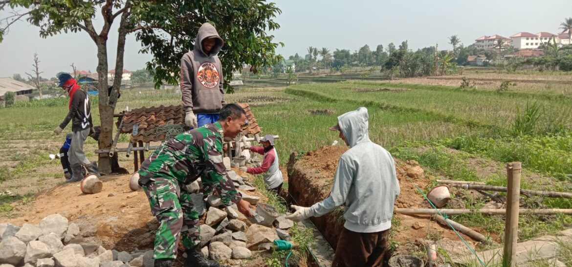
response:
<path id="1" fill-rule="evenodd" d="M 287 219 L 323 216 L 344 205 L 341 231 L 332 266 L 381 266 L 386 252 L 399 181 L 391 154 L 370 140 L 367 108 L 337 117 L 330 128 L 339 131 L 350 149 L 337 163 L 332 192 L 312 207 L 292 205 Z"/>

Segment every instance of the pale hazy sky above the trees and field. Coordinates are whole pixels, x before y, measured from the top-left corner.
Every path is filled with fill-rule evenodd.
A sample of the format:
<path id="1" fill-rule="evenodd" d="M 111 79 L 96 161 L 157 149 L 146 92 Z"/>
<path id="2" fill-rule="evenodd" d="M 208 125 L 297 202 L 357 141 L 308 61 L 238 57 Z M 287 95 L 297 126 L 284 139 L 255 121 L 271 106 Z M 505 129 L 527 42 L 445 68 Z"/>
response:
<path id="1" fill-rule="evenodd" d="M 448 37 L 458 35 L 468 46 L 483 35 L 499 34 L 510 37 L 520 31 L 559 33 L 560 23 L 572 17 L 570 0 L 276 0 L 282 13 L 276 17 L 280 29 L 273 31 L 276 42 L 285 46 L 277 52 L 289 55 L 306 54 L 307 47 L 328 47 L 358 50 L 368 44 L 375 50 L 378 44 L 387 48 L 407 40 L 411 49 L 439 44 L 451 49 Z M 7 10 L 0 11 L 0 18 Z M 101 19 L 94 22 L 101 29 Z M 117 49 L 117 25 L 108 40 L 110 69 Z M 145 67 L 152 55 L 139 54 L 141 46 L 129 35 L 125 47 L 125 68 Z M 26 21 L 15 23 L 0 43 L 0 77 L 25 72 L 31 74 L 33 54 L 40 59 L 43 77 L 53 77 L 59 71 L 96 71 L 97 47 L 85 32 L 63 33 L 42 39 L 38 27 Z"/>

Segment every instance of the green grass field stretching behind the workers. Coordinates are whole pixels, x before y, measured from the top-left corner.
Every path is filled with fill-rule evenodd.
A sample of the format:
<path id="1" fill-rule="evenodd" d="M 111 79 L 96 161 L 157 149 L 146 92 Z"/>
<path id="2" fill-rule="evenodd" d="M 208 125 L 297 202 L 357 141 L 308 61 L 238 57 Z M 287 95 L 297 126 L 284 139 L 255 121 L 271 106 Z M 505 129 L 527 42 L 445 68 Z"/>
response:
<path id="1" fill-rule="evenodd" d="M 530 77 L 474 72 L 470 77 L 492 79 L 499 75 L 503 79 L 514 75 L 519 79 L 570 80 L 569 76 L 559 75 Z M 498 93 L 492 86 L 482 90 L 461 89 L 460 81 L 453 84 L 450 80 L 425 79 L 430 81 L 425 84 L 420 80 L 356 79 L 285 88 L 245 86 L 225 98 L 227 102 L 250 103 L 264 133 L 280 136 L 276 147 L 281 165 L 287 163 L 291 152 L 310 151 L 339 140 L 337 132 L 328 131 L 328 127 L 336 123 L 338 115 L 364 106 L 370 115 L 371 139 L 400 159 L 418 160 L 432 179 L 444 177 L 506 185 L 503 165 L 522 161 L 523 188 L 572 191 L 572 104 L 570 95 L 559 92 L 572 91 L 569 85 L 539 90 L 517 84 L 514 89 Z M 116 111 L 180 104 L 180 99 L 180 94 L 169 90 L 124 90 Z M 17 192 L 17 198 L 22 199 L 63 181 L 59 163 L 50 161 L 47 155 L 57 153 L 63 143 L 63 135 L 54 136 L 51 131 L 66 112 L 67 100 L 42 100 L 0 108 L 3 126 L 0 191 Z M 92 114 L 98 124 L 98 111 L 93 104 Z M 126 141 L 128 137 L 122 136 L 120 140 Z M 92 160 L 96 159 L 93 153 L 96 145 L 91 139 L 86 144 Z M 120 155 L 121 164 L 131 160 Z M 500 171 L 483 174 L 479 171 L 484 168 L 482 163 L 475 161 L 486 161 L 489 167 Z M 44 183 L 45 187 L 34 183 Z M 475 199 L 463 194 L 456 197 L 464 203 L 464 208 L 480 208 L 487 202 L 484 197 Z M 4 207 L 0 207 L 4 211 L 2 216 L 9 216 L 9 200 L 0 198 Z M 525 205 L 572 208 L 572 201 L 526 199 Z M 503 217 L 471 215 L 454 219 L 502 237 Z M 523 216 L 519 237 L 529 240 L 570 226 L 572 216 Z"/>

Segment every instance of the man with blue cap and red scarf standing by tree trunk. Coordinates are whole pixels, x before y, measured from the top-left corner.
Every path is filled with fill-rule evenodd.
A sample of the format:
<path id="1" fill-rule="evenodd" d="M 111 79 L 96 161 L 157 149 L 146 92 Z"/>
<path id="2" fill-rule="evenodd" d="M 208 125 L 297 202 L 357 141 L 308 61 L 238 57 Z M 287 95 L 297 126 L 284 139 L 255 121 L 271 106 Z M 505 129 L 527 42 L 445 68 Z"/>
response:
<path id="1" fill-rule="evenodd" d="M 58 76 L 58 79 L 58 87 L 61 87 L 69 94 L 70 102 L 68 106 L 69 112 L 67 112 L 66 118 L 63 119 L 63 122 L 59 124 L 59 126 L 55 127 L 54 133 L 59 135 L 70 120 L 72 121 L 72 142 L 67 152 L 67 157 L 72 168 L 72 177 L 66 180 L 66 182 L 83 180 L 84 177 L 82 173 L 84 167 L 88 173 L 100 177 L 100 171 L 97 165 L 90 163 L 84 153 L 85 139 L 88 138 L 93 128 L 89 96 L 84 90 L 81 90 L 76 79 L 72 78 L 72 75 L 62 73 Z"/>

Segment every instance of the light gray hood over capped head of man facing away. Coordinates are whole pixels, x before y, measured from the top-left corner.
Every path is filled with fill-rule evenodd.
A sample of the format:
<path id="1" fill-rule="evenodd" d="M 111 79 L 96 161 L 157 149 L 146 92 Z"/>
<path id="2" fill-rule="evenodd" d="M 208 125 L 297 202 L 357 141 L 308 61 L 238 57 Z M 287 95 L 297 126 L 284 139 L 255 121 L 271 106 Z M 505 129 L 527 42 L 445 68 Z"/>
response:
<path id="1" fill-rule="evenodd" d="M 349 147 L 355 147 L 355 145 L 370 141 L 368 119 L 369 116 L 365 107 L 360 107 L 355 111 L 350 111 L 337 117 L 337 126 L 344 133 Z M 336 126 L 331 129 L 337 130 Z"/>

